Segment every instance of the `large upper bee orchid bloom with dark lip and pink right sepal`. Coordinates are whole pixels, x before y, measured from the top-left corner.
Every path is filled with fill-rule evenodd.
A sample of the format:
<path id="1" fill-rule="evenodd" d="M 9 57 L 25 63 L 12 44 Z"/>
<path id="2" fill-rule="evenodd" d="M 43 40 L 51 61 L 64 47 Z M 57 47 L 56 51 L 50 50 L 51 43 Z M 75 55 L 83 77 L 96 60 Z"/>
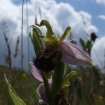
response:
<path id="1" fill-rule="evenodd" d="M 61 37 L 56 36 L 47 20 L 42 20 L 37 26 L 46 26 L 45 36 L 39 36 L 45 40 L 44 51 L 35 60 L 35 66 L 42 71 L 51 71 L 58 61 L 63 61 L 72 65 L 92 66 L 92 60 L 85 52 L 77 47 L 77 42 L 66 41 L 71 27 L 68 26 Z"/>

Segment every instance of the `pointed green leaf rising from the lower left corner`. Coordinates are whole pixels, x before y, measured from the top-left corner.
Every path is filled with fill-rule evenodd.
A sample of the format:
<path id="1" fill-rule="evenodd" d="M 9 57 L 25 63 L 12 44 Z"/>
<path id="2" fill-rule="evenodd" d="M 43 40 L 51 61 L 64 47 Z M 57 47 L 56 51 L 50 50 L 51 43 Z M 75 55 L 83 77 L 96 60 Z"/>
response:
<path id="1" fill-rule="evenodd" d="M 21 98 L 18 97 L 17 93 L 15 92 L 15 90 L 13 89 L 13 87 L 8 82 L 8 80 L 6 78 L 6 75 L 4 75 L 4 77 L 5 77 L 5 82 L 8 85 L 9 94 L 10 94 L 10 96 L 11 96 L 14 104 L 15 105 L 26 105 L 25 102 Z"/>

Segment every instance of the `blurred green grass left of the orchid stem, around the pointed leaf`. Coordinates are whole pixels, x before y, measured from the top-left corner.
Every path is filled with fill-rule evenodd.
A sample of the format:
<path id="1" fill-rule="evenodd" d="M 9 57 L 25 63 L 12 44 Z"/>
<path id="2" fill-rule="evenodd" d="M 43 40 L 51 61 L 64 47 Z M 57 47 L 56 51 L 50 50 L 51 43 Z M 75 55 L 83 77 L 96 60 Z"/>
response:
<path id="1" fill-rule="evenodd" d="M 5 66 L 0 66 L 0 105 L 14 105 L 8 93 L 8 86 L 4 80 L 4 73 L 19 97 L 22 98 L 27 105 L 35 105 L 38 103 L 34 91 L 39 83 L 30 73 L 14 69 L 10 70 Z"/>

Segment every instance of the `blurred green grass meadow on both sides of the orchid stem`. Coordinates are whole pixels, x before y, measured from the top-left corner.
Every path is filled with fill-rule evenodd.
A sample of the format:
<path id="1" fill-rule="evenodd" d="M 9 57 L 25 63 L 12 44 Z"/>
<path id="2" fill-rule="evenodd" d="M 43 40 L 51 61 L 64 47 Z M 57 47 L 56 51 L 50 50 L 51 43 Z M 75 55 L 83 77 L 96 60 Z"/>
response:
<path id="1" fill-rule="evenodd" d="M 74 69 L 70 68 L 70 70 Z M 68 71 L 70 72 L 70 70 Z M 100 85 L 100 81 L 105 80 L 105 74 L 101 73 L 97 67 L 78 67 L 75 70 L 82 80 L 71 80 L 70 87 L 65 91 L 68 92 L 66 97 L 70 102 L 72 101 L 72 105 L 105 105 L 105 84 Z M 4 73 L 18 96 L 24 100 L 27 105 L 38 104 L 38 97 L 35 90 L 39 82 L 28 72 L 15 69 L 11 70 L 1 65 L 0 105 L 14 105 L 8 93 Z"/>

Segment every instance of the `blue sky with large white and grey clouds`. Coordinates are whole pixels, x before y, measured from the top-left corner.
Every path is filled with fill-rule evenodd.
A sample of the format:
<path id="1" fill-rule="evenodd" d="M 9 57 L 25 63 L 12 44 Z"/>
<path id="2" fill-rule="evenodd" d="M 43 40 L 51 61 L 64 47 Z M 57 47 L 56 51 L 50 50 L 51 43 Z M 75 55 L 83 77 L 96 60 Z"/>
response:
<path id="1" fill-rule="evenodd" d="M 26 6 L 27 1 L 27 6 Z M 14 58 L 17 38 L 21 37 L 22 0 L 0 1 L 0 64 L 5 63 L 7 47 L 4 41 L 4 32 L 11 46 L 13 66 L 20 67 L 20 44 L 18 56 Z M 28 8 L 28 28 L 27 28 Z M 62 35 L 67 26 L 71 26 L 72 38 L 79 41 L 81 37 L 88 39 L 85 32 L 97 34 L 98 38 L 91 51 L 94 65 L 105 71 L 105 0 L 24 0 L 23 9 L 23 41 L 24 41 L 24 67 L 28 66 L 28 34 L 30 25 L 35 24 L 35 15 L 38 23 L 41 19 L 48 20 L 56 34 Z M 41 15 L 40 15 L 41 11 Z M 85 24 L 84 24 L 85 23 Z M 28 31 L 27 31 L 28 29 Z M 30 61 L 35 56 L 30 43 Z M 78 42 L 78 46 L 80 46 Z"/>

